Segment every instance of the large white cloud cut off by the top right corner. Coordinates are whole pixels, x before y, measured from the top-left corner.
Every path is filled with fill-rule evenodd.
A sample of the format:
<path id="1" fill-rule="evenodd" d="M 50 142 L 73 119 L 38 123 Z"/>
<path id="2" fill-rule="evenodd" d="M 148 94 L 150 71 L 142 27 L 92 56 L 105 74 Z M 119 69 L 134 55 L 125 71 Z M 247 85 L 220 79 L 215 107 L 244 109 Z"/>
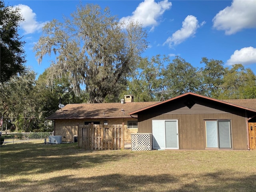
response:
<path id="1" fill-rule="evenodd" d="M 218 12 L 212 21 L 213 27 L 224 30 L 226 35 L 244 28 L 255 28 L 256 0 L 233 0 L 231 6 Z"/>

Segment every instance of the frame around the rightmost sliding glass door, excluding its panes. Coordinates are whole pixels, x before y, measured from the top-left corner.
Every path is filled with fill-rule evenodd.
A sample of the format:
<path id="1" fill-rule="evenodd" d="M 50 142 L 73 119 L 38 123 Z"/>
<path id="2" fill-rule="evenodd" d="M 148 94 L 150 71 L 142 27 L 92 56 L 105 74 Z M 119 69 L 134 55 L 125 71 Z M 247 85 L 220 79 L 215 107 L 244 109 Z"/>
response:
<path id="1" fill-rule="evenodd" d="M 217 145 L 218 147 L 207 147 L 207 122 L 216 122 L 216 133 L 217 133 Z M 222 144 L 220 144 L 220 122 L 229 122 L 229 145 L 230 147 L 221 147 Z M 222 130 L 221 130 L 222 131 Z M 204 132 L 205 132 L 205 148 L 206 149 L 233 149 L 232 144 L 232 123 L 231 119 L 211 119 L 211 120 L 204 120 Z"/>

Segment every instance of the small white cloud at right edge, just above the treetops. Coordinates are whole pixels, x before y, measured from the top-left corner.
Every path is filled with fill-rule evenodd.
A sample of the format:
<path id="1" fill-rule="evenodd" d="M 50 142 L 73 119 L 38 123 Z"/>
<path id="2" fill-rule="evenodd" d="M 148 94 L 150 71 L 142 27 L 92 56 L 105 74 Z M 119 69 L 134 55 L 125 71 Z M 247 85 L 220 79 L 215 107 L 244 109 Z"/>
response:
<path id="1" fill-rule="evenodd" d="M 240 50 L 235 50 L 234 54 L 232 54 L 227 61 L 227 65 L 249 65 L 254 63 L 256 63 L 256 48 L 253 47 L 245 47 Z"/>

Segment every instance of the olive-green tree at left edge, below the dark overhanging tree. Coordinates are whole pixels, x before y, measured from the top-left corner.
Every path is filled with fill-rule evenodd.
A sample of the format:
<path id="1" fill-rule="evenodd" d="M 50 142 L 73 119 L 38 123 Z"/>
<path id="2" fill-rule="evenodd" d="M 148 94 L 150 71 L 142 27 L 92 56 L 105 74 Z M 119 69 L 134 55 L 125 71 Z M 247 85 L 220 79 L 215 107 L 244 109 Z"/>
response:
<path id="1" fill-rule="evenodd" d="M 2 116 L 15 122 L 16 130 L 27 132 L 36 118 L 37 97 L 33 92 L 35 77 L 34 71 L 26 69 L 22 76 L 13 76 L 0 84 L 0 111 Z"/>

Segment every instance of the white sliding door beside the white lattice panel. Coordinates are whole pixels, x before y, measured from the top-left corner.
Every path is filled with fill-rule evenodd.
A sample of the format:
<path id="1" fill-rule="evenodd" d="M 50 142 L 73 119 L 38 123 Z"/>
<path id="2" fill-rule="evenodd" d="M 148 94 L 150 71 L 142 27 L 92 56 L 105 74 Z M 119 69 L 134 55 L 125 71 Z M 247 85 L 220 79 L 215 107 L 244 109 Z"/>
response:
<path id="1" fill-rule="evenodd" d="M 178 120 L 152 120 L 153 149 L 178 149 Z"/>

